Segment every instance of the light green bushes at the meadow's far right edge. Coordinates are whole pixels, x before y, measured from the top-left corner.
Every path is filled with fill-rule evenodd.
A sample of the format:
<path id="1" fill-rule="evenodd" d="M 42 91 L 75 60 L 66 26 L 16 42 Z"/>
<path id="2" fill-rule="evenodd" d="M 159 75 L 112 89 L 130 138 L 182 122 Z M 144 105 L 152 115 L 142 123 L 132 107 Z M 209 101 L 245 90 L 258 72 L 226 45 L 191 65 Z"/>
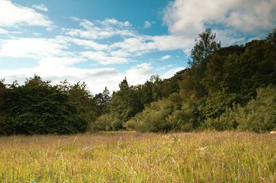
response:
<path id="1" fill-rule="evenodd" d="M 269 85 L 257 89 L 257 97 L 244 107 L 235 105 L 219 118 L 206 120 L 207 127 L 216 130 L 239 129 L 264 132 L 276 129 L 276 87 Z"/>

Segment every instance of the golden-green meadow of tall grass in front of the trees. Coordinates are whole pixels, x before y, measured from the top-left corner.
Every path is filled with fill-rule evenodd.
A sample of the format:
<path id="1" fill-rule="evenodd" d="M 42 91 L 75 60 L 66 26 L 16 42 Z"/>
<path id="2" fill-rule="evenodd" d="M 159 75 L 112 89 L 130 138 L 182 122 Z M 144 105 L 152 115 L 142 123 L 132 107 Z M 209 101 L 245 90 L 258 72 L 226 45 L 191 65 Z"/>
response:
<path id="1" fill-rule="evenodd" d="M 114 132 L 0 137 L 0 182 L 276 182 L 276 136 Z"/>

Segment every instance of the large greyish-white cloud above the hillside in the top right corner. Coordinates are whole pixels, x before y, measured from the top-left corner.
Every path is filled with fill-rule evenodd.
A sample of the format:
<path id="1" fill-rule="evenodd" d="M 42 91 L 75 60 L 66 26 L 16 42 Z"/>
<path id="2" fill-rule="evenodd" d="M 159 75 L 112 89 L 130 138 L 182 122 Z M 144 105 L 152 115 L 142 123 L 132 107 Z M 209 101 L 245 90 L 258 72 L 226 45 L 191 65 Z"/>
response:
<path id="1" fill-rule="evenodd" d="M 164 10 L 170 33 L 192 38 L 213 24 L 243 32 L 271 30 L 275 17 L 275 0 L 175 0 Z"/>

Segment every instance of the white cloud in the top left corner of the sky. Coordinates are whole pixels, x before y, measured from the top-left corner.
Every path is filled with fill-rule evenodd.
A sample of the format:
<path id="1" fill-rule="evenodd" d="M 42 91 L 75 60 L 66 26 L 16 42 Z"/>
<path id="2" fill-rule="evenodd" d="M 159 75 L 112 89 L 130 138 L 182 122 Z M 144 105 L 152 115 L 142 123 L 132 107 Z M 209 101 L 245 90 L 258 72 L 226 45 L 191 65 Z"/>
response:
<path id="1" fill-rule="evenodd" d="M 20 6 L 9 0 L 0 1 L 0 26 L 17 27 L 21 25 L 43 26 L 50 28 L 52 21 L 45 15 L 26 6 Z"/>

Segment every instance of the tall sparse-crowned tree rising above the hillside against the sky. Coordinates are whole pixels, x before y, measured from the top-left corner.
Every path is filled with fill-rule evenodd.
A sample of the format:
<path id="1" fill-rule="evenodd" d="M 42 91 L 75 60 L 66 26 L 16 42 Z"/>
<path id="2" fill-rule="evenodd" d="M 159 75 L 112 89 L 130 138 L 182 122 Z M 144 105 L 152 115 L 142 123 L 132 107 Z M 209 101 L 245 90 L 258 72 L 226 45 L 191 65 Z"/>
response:
<path id="1" fill-rule="evenodd" d="M 213 54 L 220 48 L 220 41 L 215 41 L 215 33 L 212 33 L 210 29 L 206 29 L 199 34 L 199 39 L 195 39 L 195 46 L 192 49 L 190 57 L 193 61 L 189 61 L 190 67 L 199 65 L 207 56 Z"/>

